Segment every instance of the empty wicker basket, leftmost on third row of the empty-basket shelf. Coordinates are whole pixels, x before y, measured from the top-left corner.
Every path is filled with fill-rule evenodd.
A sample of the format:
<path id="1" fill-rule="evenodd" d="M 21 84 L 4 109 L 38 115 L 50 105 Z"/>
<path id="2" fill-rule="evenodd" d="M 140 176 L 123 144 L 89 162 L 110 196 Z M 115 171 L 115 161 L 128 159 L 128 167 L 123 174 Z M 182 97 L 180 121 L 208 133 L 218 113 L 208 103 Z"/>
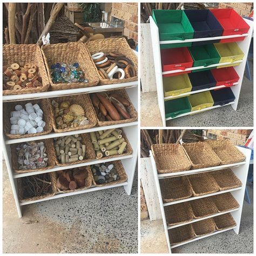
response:
<path id="1" fill-rule="evenodd" d="M 193 212 L 188 202 L 166 206 L 164 211 L 169 226 L 187 223 L 193 219 Z"/>

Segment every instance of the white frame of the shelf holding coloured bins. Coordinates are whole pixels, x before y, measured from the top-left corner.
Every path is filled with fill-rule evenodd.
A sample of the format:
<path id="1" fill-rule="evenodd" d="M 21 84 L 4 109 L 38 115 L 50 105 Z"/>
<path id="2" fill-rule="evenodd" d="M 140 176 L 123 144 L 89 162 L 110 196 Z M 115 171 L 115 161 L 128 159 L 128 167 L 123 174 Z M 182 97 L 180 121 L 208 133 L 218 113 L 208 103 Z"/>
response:
<path id="1" fill-rule="evenodd" d="M 242 86 L 242 78 L 243 78 L 244 72 L 245 72 L 246 60 L 247 60 L 248 51 L 249 51 L 249 48 L 250 48 L 250 43 L 251 43 L 251 38 L 252 38 L 252 33 L 253 33 L 253 21 L 250 21 L 250 20 L 245 19 L 245 18 L 244 18 L 244 21 L 250 26 L 250 29 L 249 29 L 248 33 L 243 34 L 243 35 L 194 38 L 194 39 L 185 39 L 184 41 L 181 41 L 181 40 L 159 41 L 158 26 L 157 26 L 156 22 L 154 22 L 153 18 L 150 16 L 150 28 L 151 28 L 152 48 L 154 49 L 153 50 L 153 57 L 154 57 L 154 69 L 155 69 L 155 73 L 156 73 L 158 106 L 159 106 L 159 109 L 160 109 L 161 119 L 163 121 L 163 126 L 164 127 L 166 127 L 166 121 L 167 120 L 173 119 L 172 117 L 168 117 L 168 118 L 165 117 L 164 100 L 177 98 L 177 96 L 164 97 L 163 75 L 170 74 L 170 73 L 177 73 L 177 72 L 181 72 L 181 71 L 184 71 L 184 70 L 173 70 L 173 71 L 162 72 L 160 44 L 201 42 L 201 41 L 210 41 L 210 40 L 215 40 L 215 39 L 225 39 L 225 38 L 245 36 L 245 39 L 243 41 L 236 42 L 238 44 L 239 48 L 242 50 L 242 52 L 244 52 L 245 56 L 242 60 L 237 60 L 237 61 L 233 62 L 233 63 L 239 63 L 238 66 L 234 66 L 233 68 L 235 69 L 235 71 L 238 73 L 238 76 L 240 77 L 238 83 L 235 83 L 234 86 L 231 87 L 231 89 L 234 93 L 234 96 L 235 96 L 235 100 L 234 100 L 234 102 L 226 104 L 226 105 L 231 105 L 234 110 L 237 110 L 239 95 L 240 95 L 241 86 Z M 207 66 L 207 68 L 222 66 L 222 65 L 226 65 L 226 64 L 231 64 L 231 63 L 226 62 L 226 63 L 213 64 L 213 65 Z M 185 69 L 185 71 L 188 71 L 188 70 L 202 70 L 203 71 L 204 69 L 205 69 L 204 66 L 197 66 L 197 67 L 187 68 L 187 69 Z M 178 97 L 189 96 L 193 93 L 199 93 L 199 92 L 203 92 L 203 91 L 210 91 L 210 90 L 214 90 L 214 89 L 221 88 L 221 87 L 226 87 L 226 86 L 221 85 L 221 86 L 218 86 L 218 87 L 211 87 L 209 89 L 186 92 L 186 93 L 182 93 L 182 94 L 178 95 Z M 224 106 L 226 106 L 226 105 L 224 105 Z M 199 112 L 203 112 L 203 111 L 210 110 L 210 109 L 215 109 L 216 107 L 221 107 L 221 105 L 206 107 L 205 109 L 191 111 L 191 112 L 187 112 L 187 113 L 184 113 L 184 114 L 179 114 L 178 116 L 176 116 L 174 118 L 183 117 L 183 116 L 187 116 L 188 114 L 199 113 Z"/>

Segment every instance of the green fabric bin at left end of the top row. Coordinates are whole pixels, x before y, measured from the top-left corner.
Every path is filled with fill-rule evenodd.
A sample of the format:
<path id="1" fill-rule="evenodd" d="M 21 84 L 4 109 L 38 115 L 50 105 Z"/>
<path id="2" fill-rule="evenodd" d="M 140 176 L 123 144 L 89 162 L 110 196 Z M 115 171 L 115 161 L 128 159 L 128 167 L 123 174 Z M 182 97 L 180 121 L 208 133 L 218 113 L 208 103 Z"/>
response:
<path id="1" fill-rule="evenodd" d="M 159 30 L 160 41 L 185 40 L 194 30 L 183 10 L 153 10 L 152 17 Z M 192 43 L 160 44 L 161 49 L 191 46 Z"/>

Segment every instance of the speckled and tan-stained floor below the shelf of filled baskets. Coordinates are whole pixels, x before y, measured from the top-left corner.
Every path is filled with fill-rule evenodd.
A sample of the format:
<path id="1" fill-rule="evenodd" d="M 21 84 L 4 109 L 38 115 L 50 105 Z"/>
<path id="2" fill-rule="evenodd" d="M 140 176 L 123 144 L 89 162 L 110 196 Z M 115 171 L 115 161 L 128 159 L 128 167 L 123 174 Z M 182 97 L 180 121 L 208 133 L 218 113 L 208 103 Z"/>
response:
<path id="1" fill-rule="evenodd" d="M 4 165 L 3 252 L 137 253 L 137 184 L 23 206 L 19 219 Z"/>

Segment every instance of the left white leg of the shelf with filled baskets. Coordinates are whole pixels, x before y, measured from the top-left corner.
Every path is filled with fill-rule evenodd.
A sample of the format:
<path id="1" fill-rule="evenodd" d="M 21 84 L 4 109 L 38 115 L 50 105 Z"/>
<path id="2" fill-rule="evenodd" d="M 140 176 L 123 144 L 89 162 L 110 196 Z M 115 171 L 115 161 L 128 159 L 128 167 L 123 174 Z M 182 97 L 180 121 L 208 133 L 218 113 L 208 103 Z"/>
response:
<path id="1" fill-rule="evenodd" d="M 3 140 L 3 142 L 4 142 L 4 140 Z M 16 183 L 14 181 L 14 177 L 12 176 L 12 168 L 11 168 L 11 164 L 10 164 L 10 159 L 11 159 L 10 145 L 8 145 L 8 148 L 6 148 L 6 145 L 3 144 L 3 153 L 4 153 L 4 159 L 5 159 L 8 175 L 9 175 L 9 180 L 11 183 L 12 193 L 14 194 L 14 200 L 15 200 L 15 204 L 16 204 L 16 208 L 17 208 L 17 212 L 18 212 L 18 217 L 22 218 L 22 211 L 21 211 L 21 206 L 19 205 L 17 187 L 16 187 Z"/>

